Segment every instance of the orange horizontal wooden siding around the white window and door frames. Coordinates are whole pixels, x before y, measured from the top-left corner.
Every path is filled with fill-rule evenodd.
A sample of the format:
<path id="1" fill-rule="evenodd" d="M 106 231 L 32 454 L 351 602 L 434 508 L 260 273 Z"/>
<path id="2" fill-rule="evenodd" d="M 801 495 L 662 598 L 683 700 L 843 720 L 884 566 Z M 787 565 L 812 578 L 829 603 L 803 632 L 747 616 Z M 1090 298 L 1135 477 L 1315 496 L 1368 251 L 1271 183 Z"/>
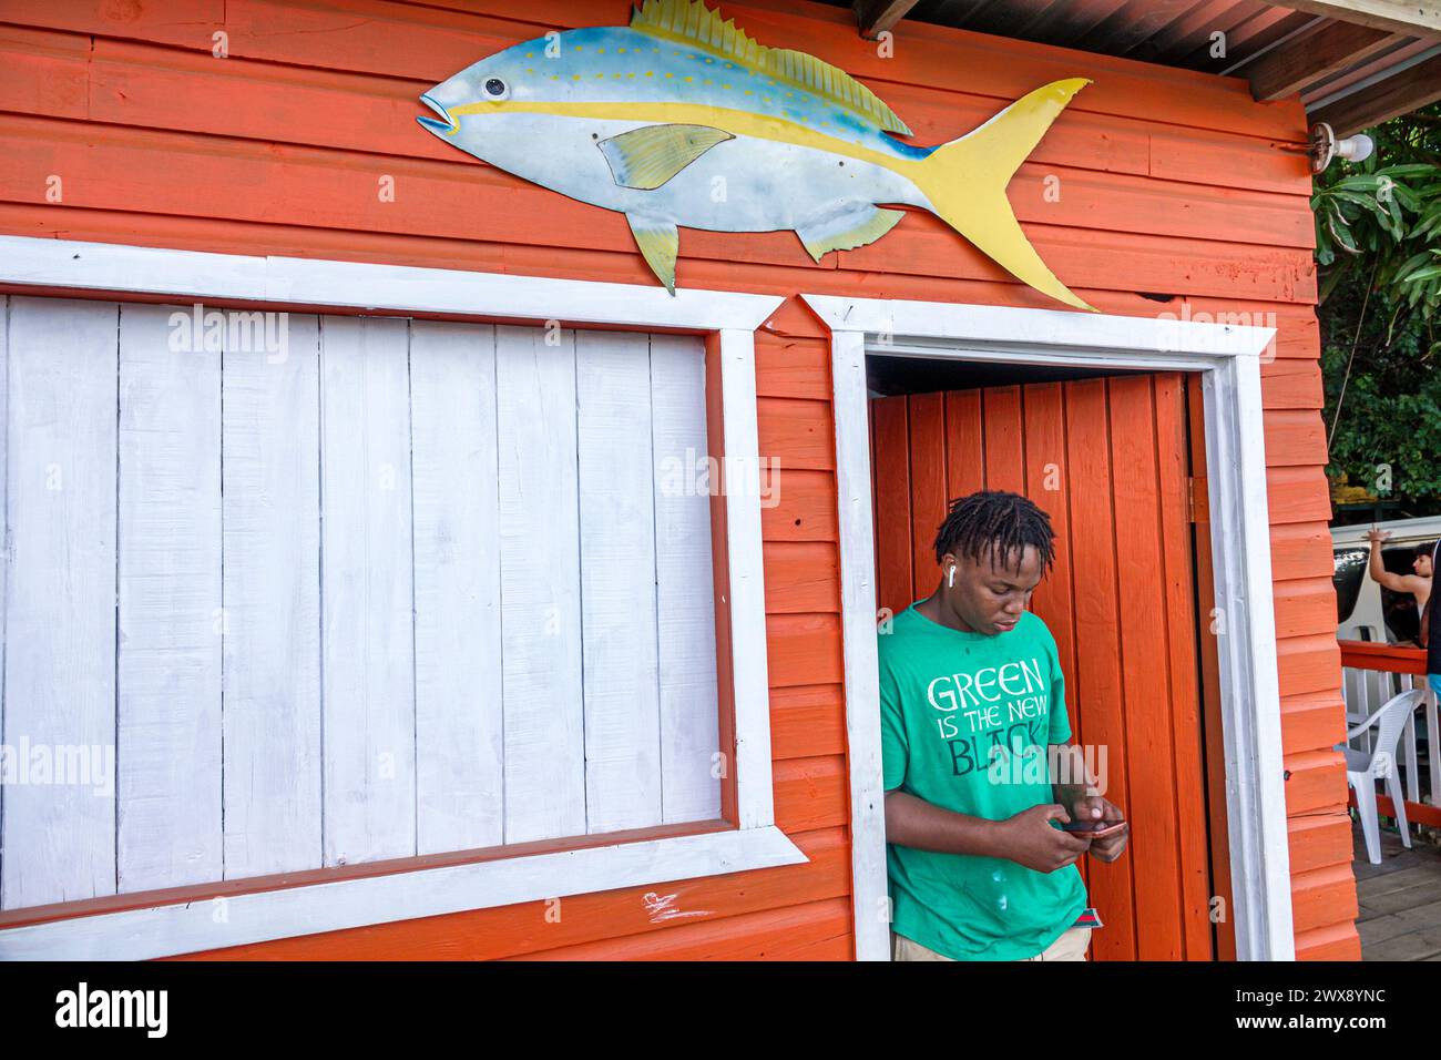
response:
<path id="1" fill-rule="evenodd" d="M 1092 78 L 1009 189 L 1038 251 L 1108 313 L 1274 320 L 1264 402 L 1287 600 L 1298 945 L 1303 956 L 1356 956 L 1344 777 L 1329 750 L 1343 727 L 1334 611 L 1319 584 L 1330 573 L 1330 512 L 1310 177 L 1301 157 L 1277 150 L 1306 138 L 1300 104 L 1252 102 L 1241 79 L 912 23 L 886 58 L 844 9 L 719 6 L 762 43 L 866 81 L 916 143 L 960 136 L 1046 81 Z M 553 27 L 623 25 L 628 10 L 627 0 L 7 0 L 0 232 L 651 284 L 620 215 L 447 150 L 414 121 L 416 97 L 476 59 Z M 218 33 L 226 58 L 212 55 Z M 393 202 L 379 195 L 386 177 Z M 1045 195 L 1050 186 L 1059 198 Z M 804 849 L 831 852 L 808 867 L 667 884 L 682 909 L 702 913 L 684 920 L 653 922 L 646 893 L 656 888 L 638 888 L 569 898 L 559 923 L 536 904 L 244 955 L 852 953 L 829 343 L 795 296 L 1055 303 L 919 212 L 818 265 L 788 232 L 684 231 L 680 252 L 682 287 L 787 297 L 757 339 L 762 453 L 782 467 L 780 503 L 762 511 L 775 802 Z"/>

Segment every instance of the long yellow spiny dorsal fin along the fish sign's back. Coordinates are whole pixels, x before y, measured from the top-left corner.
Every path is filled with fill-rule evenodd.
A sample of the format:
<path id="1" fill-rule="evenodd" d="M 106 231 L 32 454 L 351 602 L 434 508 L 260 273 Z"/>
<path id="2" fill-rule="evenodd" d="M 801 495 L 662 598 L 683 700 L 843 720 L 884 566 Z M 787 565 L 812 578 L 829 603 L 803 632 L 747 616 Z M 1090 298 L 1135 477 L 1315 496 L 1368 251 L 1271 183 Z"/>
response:
<path id="1" fill-rule="evenodd" d="M 896 112 L 846 71 L 806 52 L 758 45 L 733 19 L 722 19 L 706 7 L 705 0 L 646 0 L 631 12 L 631 29 L 732 56 L 745 66 L 865 115 L 888 133 L 911 136 Z"/>

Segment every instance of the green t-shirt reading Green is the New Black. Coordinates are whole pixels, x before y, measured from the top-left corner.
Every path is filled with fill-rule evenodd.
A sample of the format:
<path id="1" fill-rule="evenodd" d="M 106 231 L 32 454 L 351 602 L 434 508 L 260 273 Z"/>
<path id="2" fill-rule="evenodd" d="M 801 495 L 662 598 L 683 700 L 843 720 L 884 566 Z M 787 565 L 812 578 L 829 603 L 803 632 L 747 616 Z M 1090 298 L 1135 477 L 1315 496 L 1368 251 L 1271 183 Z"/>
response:
<path id="1" fill-rule="evenodd" d="M 915 604 L 879 637 L 885 789 L 1003 821 L 1055 802 L 1046 744 L 1071 738 L 1055 637 L 1030 611 L 996 636 L 931 622 Z M 1007 747 L 1010 754 L 997 754 Z M 1075 865 L 886 847 L 892 927 L 955 960 L 1020 960 L 1085 909 Z"/>

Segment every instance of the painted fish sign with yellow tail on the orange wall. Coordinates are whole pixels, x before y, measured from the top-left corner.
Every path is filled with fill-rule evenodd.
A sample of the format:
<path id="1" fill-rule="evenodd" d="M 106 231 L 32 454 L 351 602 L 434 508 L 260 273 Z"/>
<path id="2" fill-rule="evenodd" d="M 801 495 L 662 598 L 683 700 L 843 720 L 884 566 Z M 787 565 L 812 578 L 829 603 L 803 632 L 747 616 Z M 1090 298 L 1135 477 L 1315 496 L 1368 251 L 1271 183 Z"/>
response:
<path id="1" fill-rule="evenodd" d="M 421 97 L 421 125 L 572 199 L 620 211 L 676 293 L 677 226 L 791 229 L 820 261 L 905 216 L 941 218 L 1019 280 L 1091 309 L 1036 254 L 1006 185 L 1089 81 L 1053 81 L 974 131 L 915 147 L 895 111 L 844 71 L 755 43 L 702 0 L 644 0 L 630 26 L 549 33 Z"/>

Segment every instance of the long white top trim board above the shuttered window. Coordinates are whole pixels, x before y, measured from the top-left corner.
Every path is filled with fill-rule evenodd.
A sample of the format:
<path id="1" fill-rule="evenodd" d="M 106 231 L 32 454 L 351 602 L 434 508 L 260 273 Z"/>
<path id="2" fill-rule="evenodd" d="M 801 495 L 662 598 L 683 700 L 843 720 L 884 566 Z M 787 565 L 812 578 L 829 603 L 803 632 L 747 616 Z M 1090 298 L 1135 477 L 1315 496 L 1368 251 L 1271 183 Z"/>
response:
<path id="1" fill-rule="evenodd" d="M 258 258 L 108 242 L 0 237 L 0 281 L 75 291 L 163 294 L 388 313 L 754 332 L 784 299 L 735 291 L 550 280 L 463 268 Z"/>

